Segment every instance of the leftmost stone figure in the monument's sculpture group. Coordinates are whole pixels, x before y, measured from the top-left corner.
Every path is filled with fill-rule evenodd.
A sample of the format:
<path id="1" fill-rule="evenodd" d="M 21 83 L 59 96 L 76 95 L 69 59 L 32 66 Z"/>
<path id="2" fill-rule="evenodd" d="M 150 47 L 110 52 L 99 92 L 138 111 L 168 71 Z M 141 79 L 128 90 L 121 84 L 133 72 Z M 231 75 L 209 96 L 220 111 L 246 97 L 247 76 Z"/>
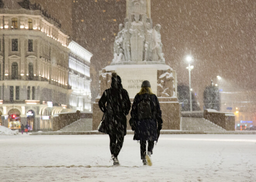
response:
<path id="1" fill-rule="evenodd" d="M 121 62 L 124 60 L 124 51 L 123 51 L 123 34 L 124 34 L 124 26 L 123 24 L 119 24 L 119 32 L 115 37 L 114 41 L 114 59 L 113 62 Z"/>

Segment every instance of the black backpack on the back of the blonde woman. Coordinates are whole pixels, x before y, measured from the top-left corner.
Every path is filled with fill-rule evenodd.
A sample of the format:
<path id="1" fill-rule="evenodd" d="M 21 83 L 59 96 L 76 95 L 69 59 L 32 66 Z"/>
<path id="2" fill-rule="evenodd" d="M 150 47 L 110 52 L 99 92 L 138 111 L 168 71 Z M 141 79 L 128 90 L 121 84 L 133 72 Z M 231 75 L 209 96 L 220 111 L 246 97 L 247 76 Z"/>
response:
<path id="1" fill-rule="evenodd" d="M 138 103 L 138 121 L 152 118 L 149 95 Z"/>

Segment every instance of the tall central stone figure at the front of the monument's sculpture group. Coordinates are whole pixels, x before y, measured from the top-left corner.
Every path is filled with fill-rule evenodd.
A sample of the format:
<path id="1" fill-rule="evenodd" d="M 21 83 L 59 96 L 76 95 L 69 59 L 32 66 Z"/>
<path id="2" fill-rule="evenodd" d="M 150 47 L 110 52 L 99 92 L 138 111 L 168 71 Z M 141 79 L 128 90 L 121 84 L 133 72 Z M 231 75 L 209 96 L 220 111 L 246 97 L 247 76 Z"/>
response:
<path id="1" fill-rule="evenodd" d="M 131 61 L 138 62 L 143 60 L 145 29 L 144 24 L 140 21 L 140 15 L 135 14 L 129 30 L 131 34 Z"/>

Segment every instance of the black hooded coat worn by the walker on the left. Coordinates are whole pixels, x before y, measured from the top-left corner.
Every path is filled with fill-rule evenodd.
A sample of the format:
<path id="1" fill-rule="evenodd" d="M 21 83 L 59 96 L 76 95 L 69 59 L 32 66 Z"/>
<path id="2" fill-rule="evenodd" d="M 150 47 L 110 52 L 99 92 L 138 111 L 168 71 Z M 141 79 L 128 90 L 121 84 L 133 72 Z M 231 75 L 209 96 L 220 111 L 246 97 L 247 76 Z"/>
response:
<path id="1" fill-rule="evenodd" d="M 106 103 L 107 107 L 105 106 Z M 102 112 L 106 112 L 107 134 L 125 136 L 126 115 L 131 109 L 131 101 L 128 92 L 123 89 L 119 76 L 112 77 L 111 88 L 104 91 L 99 100 L 99 107 Z"/>

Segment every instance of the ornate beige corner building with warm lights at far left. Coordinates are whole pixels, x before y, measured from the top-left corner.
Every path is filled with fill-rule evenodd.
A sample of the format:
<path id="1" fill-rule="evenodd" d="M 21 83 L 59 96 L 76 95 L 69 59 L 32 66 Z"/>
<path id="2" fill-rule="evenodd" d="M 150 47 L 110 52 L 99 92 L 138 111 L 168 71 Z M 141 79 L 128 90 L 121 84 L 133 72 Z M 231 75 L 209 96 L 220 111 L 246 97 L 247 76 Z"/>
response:
<path id="1" fill-rule="evenodd" d="M 50 130 L 69 105 L 68 38 L 39 4 L 3 1 L 0 8 L 0 124 Z"/>

